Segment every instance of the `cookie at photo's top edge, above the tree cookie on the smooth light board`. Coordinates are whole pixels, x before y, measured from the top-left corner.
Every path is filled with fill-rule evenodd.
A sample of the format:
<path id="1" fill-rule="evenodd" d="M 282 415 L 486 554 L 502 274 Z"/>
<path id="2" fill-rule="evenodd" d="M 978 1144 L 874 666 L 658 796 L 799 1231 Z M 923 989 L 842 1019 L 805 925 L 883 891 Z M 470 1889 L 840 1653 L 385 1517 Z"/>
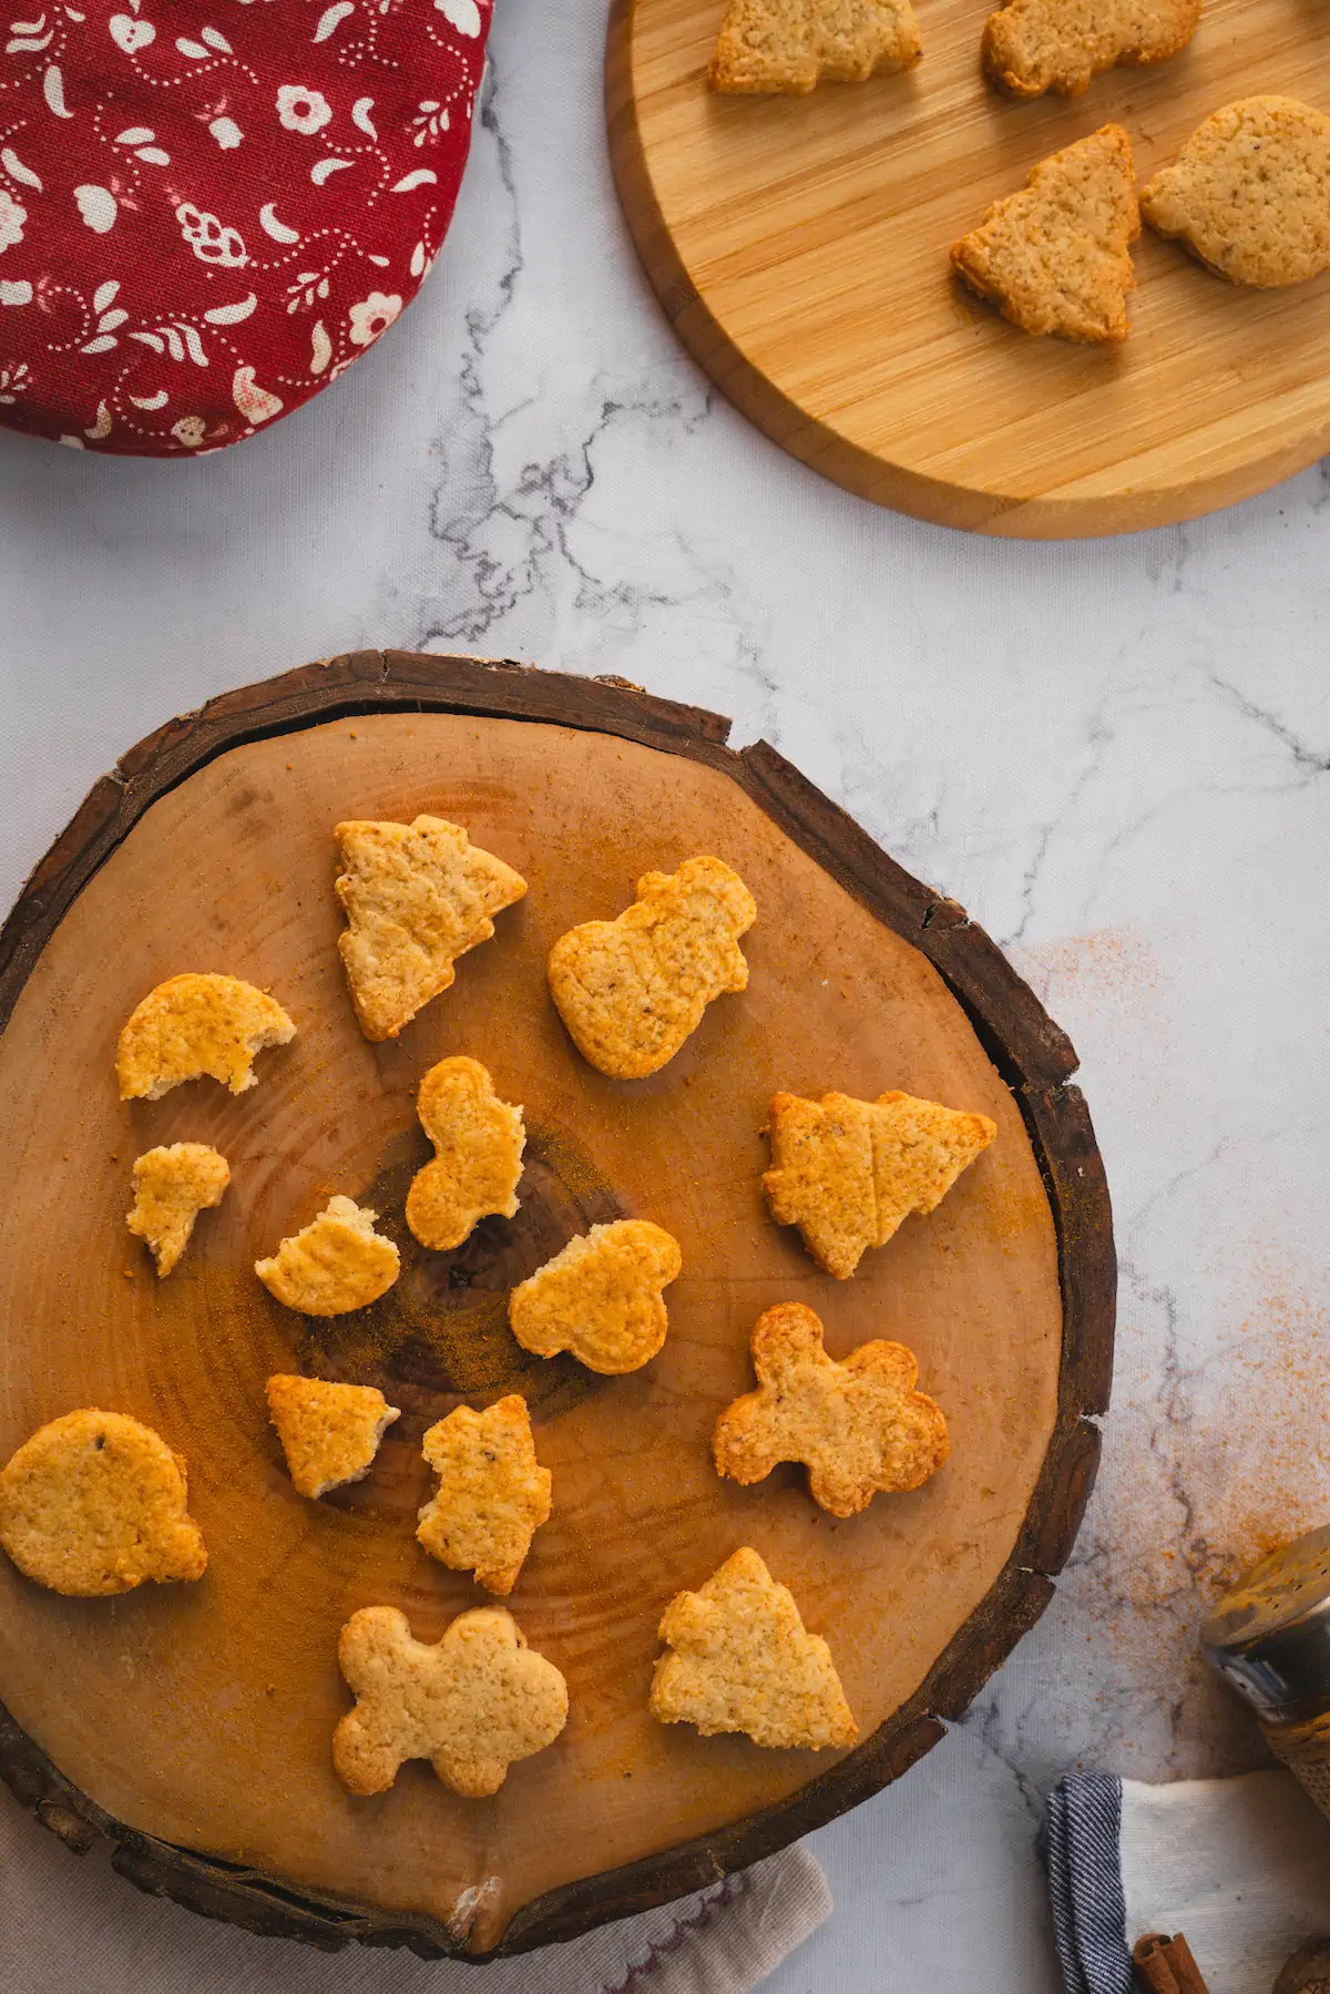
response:
<path id="1" fill-rule="evenodd" d="M 1198 20 L 1200 0 L 1009 0 L 989 14 L 983 68 L 1013 98 L 1079 98 L 1119 62 L 1176 56 Z"/>

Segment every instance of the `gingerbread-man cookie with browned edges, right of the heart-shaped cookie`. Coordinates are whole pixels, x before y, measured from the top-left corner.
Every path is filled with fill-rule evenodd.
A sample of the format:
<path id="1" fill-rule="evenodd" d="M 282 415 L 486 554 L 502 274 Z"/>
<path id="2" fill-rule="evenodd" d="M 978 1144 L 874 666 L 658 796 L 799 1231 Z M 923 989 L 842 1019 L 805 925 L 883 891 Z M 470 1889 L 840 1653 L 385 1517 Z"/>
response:
<path id="1" fill-rule="evenodd" d="M 915 1392 L 919 1366 L 903 1344 L 859 1344 L 839 1364 L 822 1322 L 802 1302 L 768 1308 L 752 1332 L 758 1390 L 716 1422 L 716 1474 L 744 1488 L 778 1462 L 808 1468 L 808 1494 L 831 1515 L 857 1515 L 873 1496 L 921 1488 L 947 1460 L 941 1408 Z"/>

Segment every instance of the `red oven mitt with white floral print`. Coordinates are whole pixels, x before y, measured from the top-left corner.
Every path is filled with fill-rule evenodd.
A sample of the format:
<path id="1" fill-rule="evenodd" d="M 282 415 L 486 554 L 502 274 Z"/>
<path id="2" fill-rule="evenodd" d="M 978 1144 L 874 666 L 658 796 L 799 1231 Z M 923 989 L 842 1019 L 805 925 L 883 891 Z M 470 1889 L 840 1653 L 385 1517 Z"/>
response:
<path id="1" fill-rule="evenodd" d="M 189 455 L 343 373 L 447 231 L 489 8 L 0 0 L 0 423 Z"/>

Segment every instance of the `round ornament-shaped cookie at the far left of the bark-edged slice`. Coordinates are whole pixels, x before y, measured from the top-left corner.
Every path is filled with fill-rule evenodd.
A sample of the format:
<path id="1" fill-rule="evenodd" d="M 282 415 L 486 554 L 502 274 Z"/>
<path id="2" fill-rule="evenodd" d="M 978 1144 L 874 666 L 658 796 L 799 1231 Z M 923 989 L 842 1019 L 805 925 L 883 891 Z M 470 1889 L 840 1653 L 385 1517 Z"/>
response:
<path id="1" fill-rule="evenodd" d="M 66 1412 L 0 1470 L 0 1545 L 54 1593 L 100 1599 L 201 1579 L 179 1454 L 124 1412 Z"/>

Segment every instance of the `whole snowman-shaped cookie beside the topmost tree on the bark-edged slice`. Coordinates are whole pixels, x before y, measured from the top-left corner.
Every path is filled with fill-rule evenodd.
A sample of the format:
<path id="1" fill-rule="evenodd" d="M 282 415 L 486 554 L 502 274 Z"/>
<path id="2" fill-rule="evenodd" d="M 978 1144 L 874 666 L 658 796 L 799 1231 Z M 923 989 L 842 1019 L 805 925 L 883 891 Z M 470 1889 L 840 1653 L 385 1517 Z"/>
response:
<path id="1" fill-rule="evenodd" d="M 674 1059 L 712 997 L 748 989 L 740 935 L 758 903 L 720 859 L 644 873 L 614 921 L 584 921 L 550 949 L 550 995 L 584 1059 L 640 1081 Z"/>

